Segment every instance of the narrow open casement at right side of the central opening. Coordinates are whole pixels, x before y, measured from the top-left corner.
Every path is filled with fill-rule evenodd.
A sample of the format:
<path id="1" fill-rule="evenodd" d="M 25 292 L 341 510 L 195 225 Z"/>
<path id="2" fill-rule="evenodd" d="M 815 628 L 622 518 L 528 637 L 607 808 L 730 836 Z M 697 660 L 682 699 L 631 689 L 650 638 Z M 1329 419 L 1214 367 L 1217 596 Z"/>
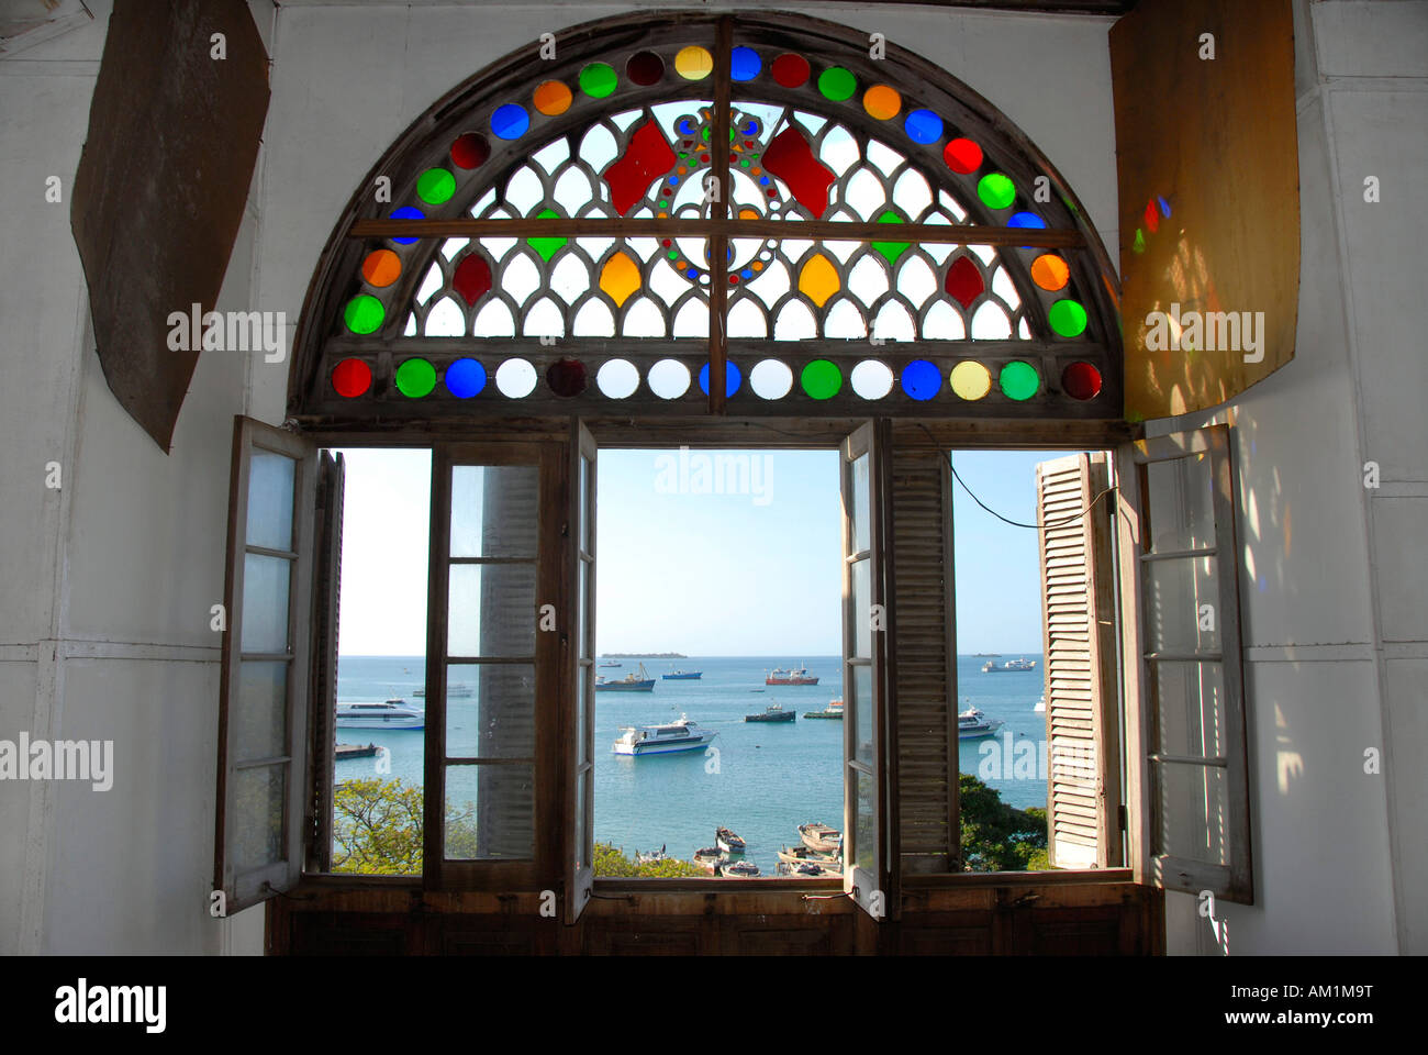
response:
<path id="1" fill-rule="evenodd" d="M 895 751 L 888 686 L 887 422 L 843 442 L 843 885 L 874 919 L 898 908 L 892 873 Z"/>

